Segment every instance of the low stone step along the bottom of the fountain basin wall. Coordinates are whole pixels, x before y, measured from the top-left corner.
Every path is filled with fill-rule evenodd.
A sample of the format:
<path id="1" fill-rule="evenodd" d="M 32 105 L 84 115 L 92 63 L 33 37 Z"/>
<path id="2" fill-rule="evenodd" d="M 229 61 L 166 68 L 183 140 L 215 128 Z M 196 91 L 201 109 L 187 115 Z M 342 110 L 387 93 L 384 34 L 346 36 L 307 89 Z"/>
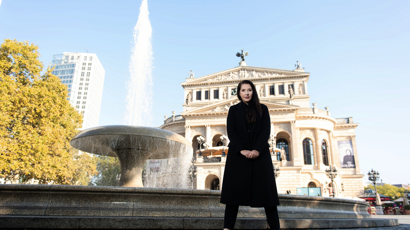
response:
<path id="1" fill-rule="evenodd" d="M 282 229 L 396 226 L 397 219 L 280 219 Z M 223 218 L 0 216 L 2 229 L 222 229 Z M 268 229 L 264 218 L 238 218 L 236 229 Z"/>

